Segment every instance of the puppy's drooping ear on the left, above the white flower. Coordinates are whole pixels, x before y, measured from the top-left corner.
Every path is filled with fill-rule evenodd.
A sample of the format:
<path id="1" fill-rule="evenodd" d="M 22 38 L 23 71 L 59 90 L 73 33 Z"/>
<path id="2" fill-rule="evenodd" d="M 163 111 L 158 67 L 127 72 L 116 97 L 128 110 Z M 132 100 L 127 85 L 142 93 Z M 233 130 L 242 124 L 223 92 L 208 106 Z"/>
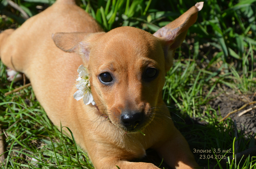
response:
<path id="1" fill-rule="evenodd" d="M 103 34 L 105 34 L 105 32 L 59 32 L 52 34 L 52 40 L 54 41 L 55 45 L 64 52 L 76 52 L 82 58 L 83 63 L 88 63 L 91 43 Z"/>

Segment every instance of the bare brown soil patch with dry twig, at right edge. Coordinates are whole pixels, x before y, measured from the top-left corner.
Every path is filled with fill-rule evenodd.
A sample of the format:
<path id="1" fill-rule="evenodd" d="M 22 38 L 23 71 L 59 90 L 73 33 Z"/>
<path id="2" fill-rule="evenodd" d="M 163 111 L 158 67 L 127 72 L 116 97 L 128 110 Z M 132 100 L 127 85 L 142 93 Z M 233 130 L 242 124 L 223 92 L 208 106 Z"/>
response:
<path id="1" fill-rule="evenodd" d="M 222 93 L 220 95 L 220 93 Z M 226 91 L 212 92 L 216 98 L 209 102 L 213 109 L 217 111 L 218 115 L 222 118 L 226 117 L 230 112 L 240 109 L 242 106 L 256 101 L 256 93 L 248 95 L 238 95 L 233 90 L 227 89 Z M 256 103 L 245 106 L 243 109 L 234 112 L 228 117 L 234 122 L 236 121 L 237 129 L 243 131 L 244 134 L 255 135 L 256 134 Z M 254 107 L 254 108 L 253 108 Z M 239 113 L 244 112 L 247 109 L 253 108 L 247 113 L 239 117 Z M 221 119 L 221 118 L 220 118 Z"/>

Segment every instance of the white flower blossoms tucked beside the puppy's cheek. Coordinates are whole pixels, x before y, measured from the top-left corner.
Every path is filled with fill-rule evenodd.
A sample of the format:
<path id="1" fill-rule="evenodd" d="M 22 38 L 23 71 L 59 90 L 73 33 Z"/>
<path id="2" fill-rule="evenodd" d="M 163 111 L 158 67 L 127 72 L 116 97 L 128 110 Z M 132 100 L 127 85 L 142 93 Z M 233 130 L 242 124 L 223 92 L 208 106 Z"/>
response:
<path id="1" fill-rule="evenodd" d="M 87 72 L 87 69 L 81 65 L 79 66 L 77 72 L 79 73 L 78 78 L 76 79 L 76 88 L 78 91 L 74 94 L 74 98 L 76 100 L 80 100 L 83 98 L 84 104 L 88 105 L 92 103 L 92 105 L 95 105 L 95 102 L 93 100 L 93 95 L 90 90 L 90 75 Z"/>

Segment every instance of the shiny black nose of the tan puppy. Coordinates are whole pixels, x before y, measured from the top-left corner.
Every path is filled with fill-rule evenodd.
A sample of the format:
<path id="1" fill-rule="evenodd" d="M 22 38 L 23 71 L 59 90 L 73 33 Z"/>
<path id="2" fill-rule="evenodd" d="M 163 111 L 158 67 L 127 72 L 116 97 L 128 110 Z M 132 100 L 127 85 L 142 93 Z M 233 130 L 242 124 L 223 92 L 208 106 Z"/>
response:
<path id="1" fill-rule="evenodd" d="M 134 130 L 140 128 L 143 121 L 142 112 L 122 112 L 121 122 L 127 130 Z"/>

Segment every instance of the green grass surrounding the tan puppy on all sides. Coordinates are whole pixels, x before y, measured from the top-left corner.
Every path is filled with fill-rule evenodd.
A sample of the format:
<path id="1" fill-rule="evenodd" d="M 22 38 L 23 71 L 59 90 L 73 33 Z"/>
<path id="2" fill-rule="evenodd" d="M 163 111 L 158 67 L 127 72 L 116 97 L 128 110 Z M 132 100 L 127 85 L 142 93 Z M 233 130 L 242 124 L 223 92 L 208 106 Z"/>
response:
<path id="1" fill-rule="evenodd" d="M 16 0 L 30 17 L 47 8 L 53 1 Z M 196 1 L 165 0 L 81 0 L 80 6 L 109 31 L 118 26 L 134 26 L 154 33 L 165 26 Z M 209 168 L 256 169 L 256 157 L 241 161 L 228 157 L 255 146 L 256 135 L 234 131 L 234 122 L 221 119 L 218 109 L 209 101 L 230 89 L 240 95 L 256 91 L 256 1 L 208 0 L 198 13 L 198 21 L 175 53 L 174 66 L 166 75 L 163 99 L 170 106 L 172 118 L 186 137 L 200 166 Z M 0 29 L 18 27 L 24 22 L 19 11 L 0 3 Z M 93 168 L 85 152 L 75 140 L 66 137 L 47 118 L 31 87 L 4 96 L 22 86 L 23 82 L 7 81 L 5 66 L 0 63 L 0 125 L 6 135 L 4 169 L 20 168 Z M 197 124 L 193 119 L 205 123 Z M 186 123 L 184 123 L 184 121 Z M 234 141 L 234 138 L 236 140 Z M 218 149 L 221 152 L 218 152 Z M 224 151 L 229 150 L 225 154 Z M 207 152 L 200 152 L 207 151 Z M 204 155 L 206 158 L 204 158 Z M 207 159 L 208 157 L 208 159 Z M 219 156 L 220 157 L 220 156 Z M 36 161 L 35 161 L 36 160 Z"/>

